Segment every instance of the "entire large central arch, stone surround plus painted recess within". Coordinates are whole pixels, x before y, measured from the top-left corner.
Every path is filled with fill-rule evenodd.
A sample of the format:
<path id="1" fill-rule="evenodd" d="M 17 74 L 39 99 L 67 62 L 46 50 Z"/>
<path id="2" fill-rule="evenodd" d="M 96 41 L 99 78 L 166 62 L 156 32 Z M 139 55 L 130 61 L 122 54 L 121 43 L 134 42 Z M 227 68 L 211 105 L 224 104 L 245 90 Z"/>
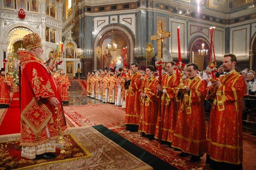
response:
<path id="1" fill-rule="evenodd" d="M 108 52 L 108 50 L 106 49 L 107 44 L 110 43 L 111 40 L 113 40 L 113 42 L 117 44 L 116 52 Z M 93 55 L 94 69 L 102 69 L 105 65 L 108 65 L 107 67 L 109 67 L 109 63 L 112 63 L 111 66 L 113 66 L 114 60 L 119 66 L 121 66 L 124 57 L 123 48 L 126 47 L 126 64 L 130 65 L 130 63 L 134 62 L 133 49 L 135 46 L 135 38 L 131 30 L 125 26 L 122 26 L 120 24 L 113 24 L 111 26 L 106 26 L 105 28 L 103 28 L 95 37 L 93 51 L 95 51 L 97 46 L 102 47 L 102 55 L 104 56 L 102 56 L 102 59 L 98 59 L 96 57 L 96 54 Z M 107 59 L 107 62 L 104 62 L 103 57 Z"/>

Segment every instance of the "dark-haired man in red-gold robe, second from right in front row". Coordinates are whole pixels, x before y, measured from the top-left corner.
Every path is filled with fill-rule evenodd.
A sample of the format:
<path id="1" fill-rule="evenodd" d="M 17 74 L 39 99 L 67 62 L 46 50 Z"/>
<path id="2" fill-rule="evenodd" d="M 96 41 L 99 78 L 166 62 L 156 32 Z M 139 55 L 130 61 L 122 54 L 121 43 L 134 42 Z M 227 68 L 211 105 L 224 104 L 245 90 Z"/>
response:
<path id="1" fill-rule="evenodd" d="M 206 127 L 204 98 L 206 83 L 198 76 L 198 66 L 190 63 L 187 66 L 189 78 L 184 81 L 187 89 L 176 92 L 176 100 L 180 102 L 172 147 L 183 152 L 180 156 L 192 155 L 190 161 L 199 161 L 206 153 Z"/>

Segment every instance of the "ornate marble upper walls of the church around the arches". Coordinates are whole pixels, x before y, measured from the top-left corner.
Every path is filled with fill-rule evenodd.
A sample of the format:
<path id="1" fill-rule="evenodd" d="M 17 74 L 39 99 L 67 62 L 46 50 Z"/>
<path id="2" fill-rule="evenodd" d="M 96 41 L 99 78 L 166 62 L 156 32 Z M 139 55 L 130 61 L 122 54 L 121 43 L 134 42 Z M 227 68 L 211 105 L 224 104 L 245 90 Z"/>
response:
<path id="1" fill-rule="evenodd" d="M 47 1 L 49 10 L 56 7 L 55 17 L 47 15 L 47 6 L 45 5 Z M 1 0 L 0 59 L 3 59 L 8 46 L 8 38 L 4 35 L 6 35 L 6 30 L 14 29 L 11 27 L 12 24 L 17 24 L 17 27 L 20 28 L 26 27 L 41 35 L 43 49 L 46 51 L 44 57 L 47 60 L 51 51 L 48 49 L 55 49 L 56 43 L 62 40 L 62 37 L 70 30 L 73 32 L 72 39 L 78 46 L 76 50 L 80 49 L 86 52 L 86 50 L 94 49 L 97 33 L 111 24 L 122 24 L 127 30 L 131 30 L 135 38 L 134 48 L 141 48 L 141 53 L 147 42 L 153 43 L 156 52 L 157 41 L 151 41 L 150 36 L 156 34 L 157 22 L 162 20 L 163 31 L 172 32 L 171 38 L 165 39 L 164 43 L 174 59 L 177 55 L 174 52 L 177 51 L 177 28 L 175 27 L 180 24 L 181 51 L 183 51 L 184 59 L 189 59 L 189 43 L 197 37 L 204 37 L 209 41 L 209 27 L 216 26 L 215 53 L 220 55 L 217 55 L 217 59 L 220 61 L 221 55 L 224 53 L 234 52 L 236 55 L 246 54 L 238 55 L 239 61 L 246 63 L 250 59 L 250 42 L 256 31 L 256 17 L 252 13 L 255 9 L 253 5 L 256 5 L 256 2 L 240 0 L 237 5 L 236 1 L 203 0 L 200 2 L 200 13 L 197 14 L 196 0 L 133 0 L 129 2 L 119 0 L 118 4 L 116 4 L 116 0 L 72 0 L 71 12 L 66 15 L 67 0 L 62 0 L 62 3 L 56 0 L 41 0 L 38 3 L 38 9 L 36 11 L 31 10 L 32 8 L 25 10 L 26 18 L 21 20 L 17 17 L 17 9 L 4 8 L 4 1 Z M 127 4 L 128 6 L 135 5 L 135 7 L 124 9 Z M 116 10 L 106 10 L 115 5 Z M 30 5 L 30 7 L 32 6 Z M 99 11 L 100 7 L 101 9 L 104 7 L 104 10 Z M 187 14 L 185 14 L 186 11 Z M 55 43 L 51 40 L 47 41 L 47 28 L 55 31 Z M 239 40 L 241 38 L 242 41 Z M 239 46 L 239 43 L 244 44 Z M 77 64 L 75 65 L 77 66 Z"/>

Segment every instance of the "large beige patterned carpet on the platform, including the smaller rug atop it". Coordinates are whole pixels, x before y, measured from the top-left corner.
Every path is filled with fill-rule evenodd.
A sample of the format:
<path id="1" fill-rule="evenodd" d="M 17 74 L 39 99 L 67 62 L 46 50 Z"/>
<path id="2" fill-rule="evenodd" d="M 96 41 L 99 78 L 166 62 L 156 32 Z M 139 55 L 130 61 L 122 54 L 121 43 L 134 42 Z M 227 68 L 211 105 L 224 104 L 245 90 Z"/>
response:
<path id="1" fill-rule="evenodd" d="M 62 159 L 65 156 L 74 158 L 57 161 L 52 159 L 51 162 L 38 162 L 37 165 L 26 167 L 29 170 L 153 170 L 148 164 L 128 153 L 126 150 L 119 147 L 113 141 L 106 138 L 93 127 L 73 127 L 67 130 L 66 139 L 67 146 L 72 149 L 66 149 L 66 154 L 57 153 L 57 158 Z M 71 134 L 71 135 L 69 135 Z M 0 163 L 19 166 L 21 164 L 35 164 L 35 160 L 20 159 L 18 152 L 18 140 L 20 134 L 2 135 L 0 136 Z M 6 142 L 9 141 L 9 142 Z M 8 143 L 8 144 L 7 144 Z M 6 147 L 12 146 L 12 147 Z M 15 147 L 16 146 L 16 147 Z M 6 149 L 7 148 L 7 149 Z M 82 152 L 82 148 L 87 151 Z M 7 153 L 16 152 L 16 156 L 5 156 Z M 84 156 L 87 153 L 87 156 Z M 89 154 L 90 153 L 90 154 Z M 91 155 L 91 156 L 90 156 Z M 3 157 L 4 156 L 4 157 Z M 83 157 L 84 156 L 84 157 Z M 90 156 L 90 157 L 89 157 Z M 56 159 L 57 159 L 56 158 Z M 5 170 L 3 165 L 0 165 L 0 170 Z"/>

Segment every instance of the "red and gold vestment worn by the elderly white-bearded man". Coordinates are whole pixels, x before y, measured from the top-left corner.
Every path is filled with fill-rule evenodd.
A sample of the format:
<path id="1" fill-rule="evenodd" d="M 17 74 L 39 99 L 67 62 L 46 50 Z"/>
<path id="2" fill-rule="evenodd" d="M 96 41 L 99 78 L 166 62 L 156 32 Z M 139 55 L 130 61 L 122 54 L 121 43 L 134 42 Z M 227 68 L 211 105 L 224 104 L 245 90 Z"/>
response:
<path id="1" fill-rule="evenodd" d="M 52 97 L 61 102 L 61 96 L 52 75 L 35 55 L 18 52 L 21 61 L 21 132 L 20 145 L 34 147 L 58 138 L 58 123 L 61 130 L 67 128 L 62 104 L 55 107 L 49 104 Z"/>

